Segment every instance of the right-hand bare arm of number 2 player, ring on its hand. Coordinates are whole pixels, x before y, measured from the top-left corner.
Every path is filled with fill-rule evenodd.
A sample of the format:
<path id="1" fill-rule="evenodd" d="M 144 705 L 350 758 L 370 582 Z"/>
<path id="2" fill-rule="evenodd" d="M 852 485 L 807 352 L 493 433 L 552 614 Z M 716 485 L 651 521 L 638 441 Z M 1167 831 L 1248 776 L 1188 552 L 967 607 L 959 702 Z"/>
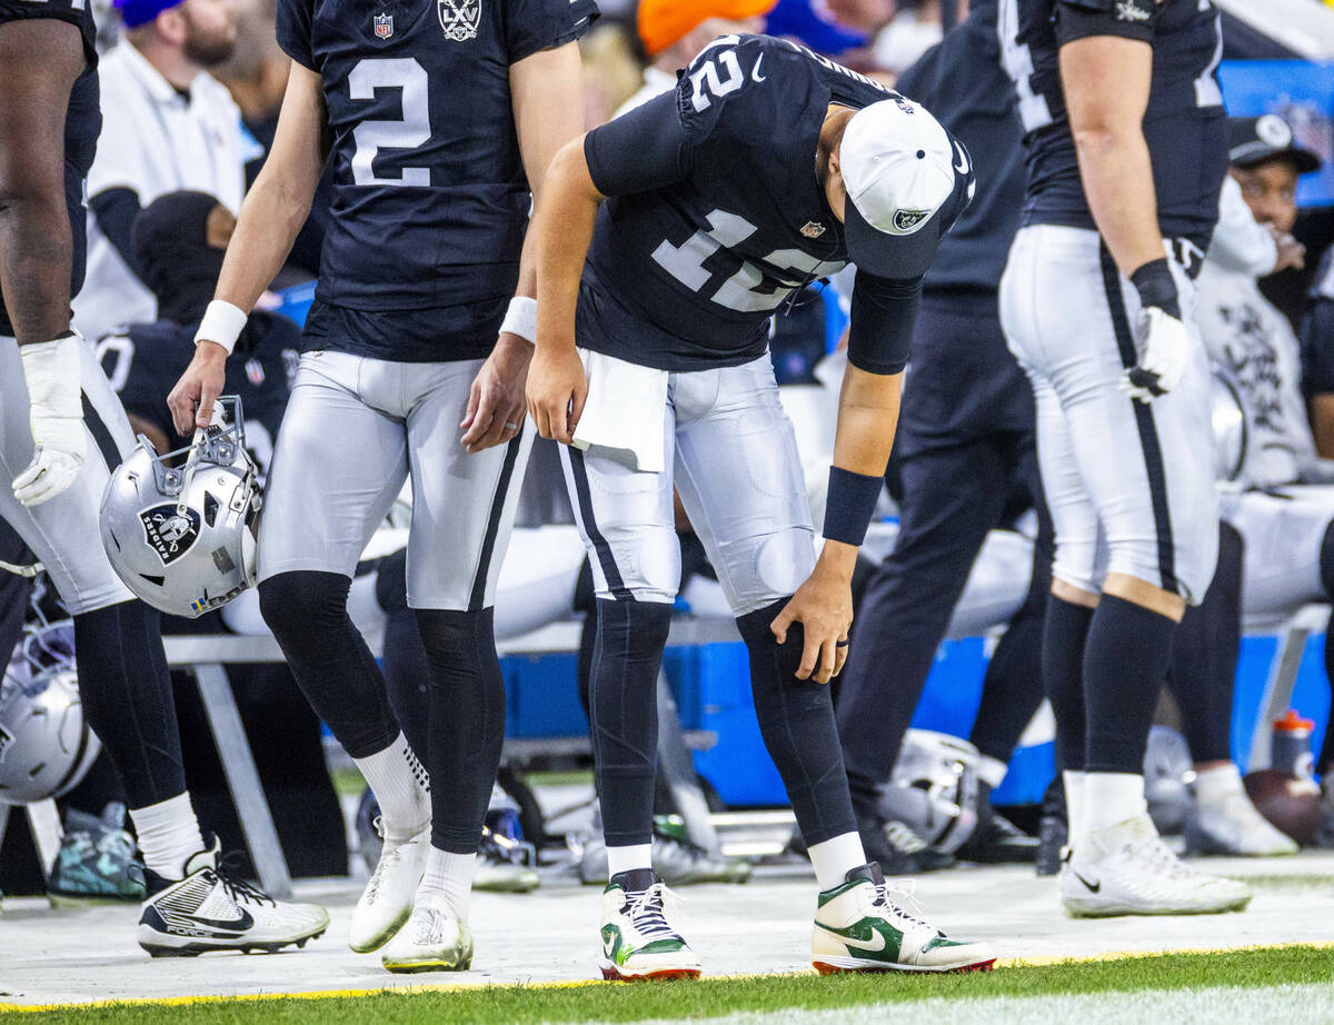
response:
<path id="1" fill-rule="evenodd" d="M 510 96 L 519 133 L 528 188 L 540 203 L 547 168 L 566 143 L 583 131 L 583 64 L 579 47 L 566 43 L 542 49 L 510 67 Z M 519 258 L 519 287 L 515 295 L 538 295 L 538 259 L 531 230 Z M 523 423 L 523 390 L 528 376 L 532 346 L 518 335 L 503 332 L 486 366 L 472 383 L 467 414 L 459 426 L 463 446 L 470 452 L 510 440 Z M 515 424 L 511 427 L 510 424 Z"/>

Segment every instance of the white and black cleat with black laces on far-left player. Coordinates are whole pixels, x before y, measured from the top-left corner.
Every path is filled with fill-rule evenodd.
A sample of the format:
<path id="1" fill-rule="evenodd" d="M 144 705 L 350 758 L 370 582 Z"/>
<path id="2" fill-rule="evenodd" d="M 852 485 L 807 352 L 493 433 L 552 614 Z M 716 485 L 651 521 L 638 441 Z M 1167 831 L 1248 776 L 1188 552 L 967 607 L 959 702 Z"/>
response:
<path id="1" fill-rule="evenodd" d="M 219 862 L 219 843 L 192 854 L 185 878 L 172 882 L 144 872 L 148 900 L 139 917 L 139 945 L 151 957 L 193 957 L 211 950 L 259 950 L 305 946 L 329 925 L 313 904 L 275 901 Z"/>

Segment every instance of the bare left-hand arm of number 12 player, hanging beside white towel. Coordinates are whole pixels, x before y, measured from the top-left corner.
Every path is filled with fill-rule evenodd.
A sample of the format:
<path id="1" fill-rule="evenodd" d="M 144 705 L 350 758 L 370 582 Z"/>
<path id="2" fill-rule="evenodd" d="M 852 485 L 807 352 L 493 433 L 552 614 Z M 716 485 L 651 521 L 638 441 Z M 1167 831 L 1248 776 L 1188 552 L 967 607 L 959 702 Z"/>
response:
<path id="1" fill-rule="evenodd" d="M 538 340 L 528 412 L 543 438 L 571 444 L 588 384 L 575 351 L 575 308 L 603 195 L 592 183 L 583 136 L 551 164 L 530 235 L 536 247 Z"/>

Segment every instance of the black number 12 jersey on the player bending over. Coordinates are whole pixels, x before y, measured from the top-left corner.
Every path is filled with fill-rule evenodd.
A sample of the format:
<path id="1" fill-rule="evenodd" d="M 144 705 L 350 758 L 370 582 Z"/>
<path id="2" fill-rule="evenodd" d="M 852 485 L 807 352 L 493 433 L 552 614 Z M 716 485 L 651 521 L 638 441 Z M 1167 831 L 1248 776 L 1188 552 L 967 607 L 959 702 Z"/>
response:
<path id="1" fill-rule="evenodd" d="M 828 107 L 862 109 L 882 100 L 911 107 L 892 89 L 795 43 L 714 40 L 682 72 L 674 95 L 651 101 L 680 140 L 680 175 L 648 191 L 612 190 L 602 204 L 579 296 L 579 343 L 676 371 L 763 355 L 775 311 L 848 263 L 843 226 L 815 171 Z M 650 116 L 648 109 L 640 116 Z M 591 132 L 584 145 L 603 192 L 616 178 L 608 169 L 610 140 L 623 131 L 614 121 Z M 959 159 L 968 172 L 966 157 Z M 970 184 L 971 175 L 960 198 Z M 906 286 L 912 295 L 919 278 Z M 900 283 L 867 275 L 858 276 L 856 292 L 874 303 L 870 296 L 880 284 L 898 295 Z M 852 319 L 855 331 L 856 299 Z M 902 363 L 891 355 L 867 368 L 896 372 Z"/>

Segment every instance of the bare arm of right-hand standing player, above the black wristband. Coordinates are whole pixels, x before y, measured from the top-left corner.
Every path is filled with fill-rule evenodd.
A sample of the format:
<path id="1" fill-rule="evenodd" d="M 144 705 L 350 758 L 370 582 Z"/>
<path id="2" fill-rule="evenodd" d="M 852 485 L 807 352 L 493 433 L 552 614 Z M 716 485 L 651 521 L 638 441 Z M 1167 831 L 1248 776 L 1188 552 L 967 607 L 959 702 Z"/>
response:
<path id="1" fill-rule="evenodd" d="M 1163 258 L 1143 132 L 1153 61 L 1149 43 L 1121 36 L 1086 36 L 1061 48 L 1061 81 L 1085 196 L 1127 278 Z"/>

